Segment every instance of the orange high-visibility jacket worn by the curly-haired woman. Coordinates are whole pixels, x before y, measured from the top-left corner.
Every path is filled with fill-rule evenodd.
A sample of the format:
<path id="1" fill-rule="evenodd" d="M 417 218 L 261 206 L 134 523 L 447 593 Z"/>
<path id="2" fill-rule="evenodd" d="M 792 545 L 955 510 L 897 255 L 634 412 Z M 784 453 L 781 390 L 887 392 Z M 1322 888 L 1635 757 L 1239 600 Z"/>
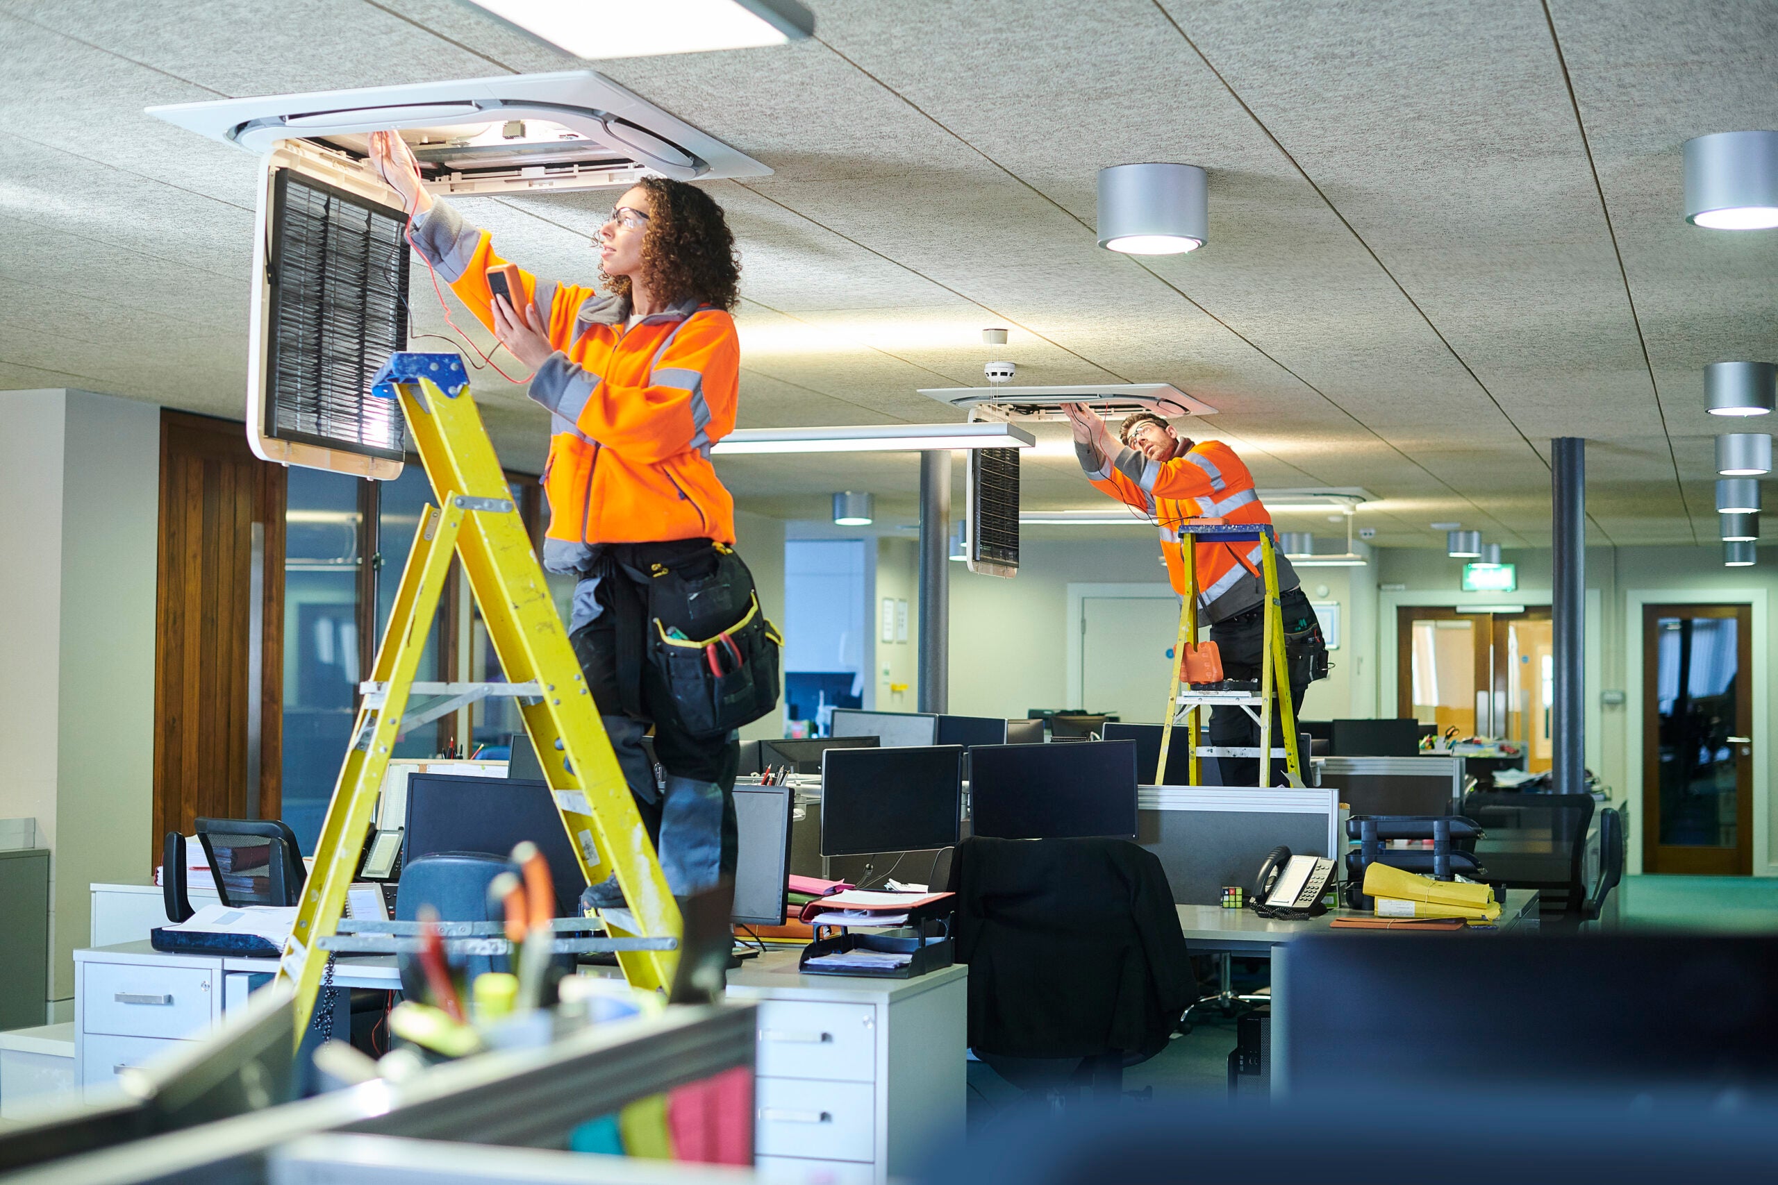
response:
<path id="1" fill-rule="evenodd" d="M 414 220 L 414 247 L 493 329 L 487 268 L 505 263 L 487 231 L 443 201 Z M 530 272 L 525 297 L 557 348 L 532 377 L 549 409 L 544 567 L 580 572 L 592 544 L 734 542 L 734 497 L 709 446 L 734 428 L 734 320 L 695 300 L 635 325 L 629 300 Z"/>

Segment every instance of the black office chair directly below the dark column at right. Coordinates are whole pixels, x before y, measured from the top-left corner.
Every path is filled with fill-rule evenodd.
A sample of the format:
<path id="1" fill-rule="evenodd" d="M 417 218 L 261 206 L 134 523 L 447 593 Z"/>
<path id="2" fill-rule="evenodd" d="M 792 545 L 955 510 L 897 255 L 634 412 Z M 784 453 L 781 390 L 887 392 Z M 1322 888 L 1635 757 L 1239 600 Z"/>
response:
<path id="1" fill-rule="evenodd" d="M 1538 913 L 1545 919 L 1579 920 L 1586 908 L 1586 830 L 1593 823 L 1591 794 L 1526 794 L 1522 791 L 1470 791 L 1463 814 L 1488 837 L 1476 846 L 1488 865 L 1488 879 L 1506 888 L 1538 890 Z M 1549 842 L 1549 851 L 1511 849 Z"/>

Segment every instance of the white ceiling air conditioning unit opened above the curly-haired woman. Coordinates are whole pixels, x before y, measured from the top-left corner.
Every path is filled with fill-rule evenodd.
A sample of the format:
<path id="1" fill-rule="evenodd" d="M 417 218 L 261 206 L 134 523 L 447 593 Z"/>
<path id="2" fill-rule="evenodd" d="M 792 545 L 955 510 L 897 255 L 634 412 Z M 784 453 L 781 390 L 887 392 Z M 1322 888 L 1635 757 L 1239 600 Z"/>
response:
<path id="1" fill-rule="evenodd" d="M 772 169 L 590 69 L 149 107 L 252 153 L 290 140 L 364 160 L 398 130 L 434 194 L 526 194 L 763 178 Z"/>

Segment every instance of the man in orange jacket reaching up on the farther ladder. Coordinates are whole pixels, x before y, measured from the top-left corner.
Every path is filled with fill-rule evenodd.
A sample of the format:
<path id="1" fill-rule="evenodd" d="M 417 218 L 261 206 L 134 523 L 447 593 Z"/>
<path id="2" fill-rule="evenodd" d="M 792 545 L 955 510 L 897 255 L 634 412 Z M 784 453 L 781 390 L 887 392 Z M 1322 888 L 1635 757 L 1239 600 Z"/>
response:
<path id="1" fill-rule="evenodd" d="M 1136 412 L 1118 430 L 1122 444 L 1085 403 L 1067 403 L 1074 428 L 1074 451 L 1086 480 L 1101 490 L 1149 515 L 1161 528 L 1161 556 L 1173 592 L 1186 595 L 1181 528 L 1188 519 L 1221 519 L 1229 524 L 1271 522 L 1253 490 L 1253 478 L 1221 441 L 1197 444 L 1181 437 L 1154 412 Z M 1211 625 L 1211 641 L 1221 652 L 1227 679 L 1259 679 L 1264 638 L 1266 585 L 1259 572 L 1259 544 L 1200 540 L 1197 545 L 1198 608 Z M 1278 600 L 1284 613 L 1284 652 L 1291 670 L 1293 714 L 1303 707 L 1314 652 L 1325 650 L 1321 624 L 1303 595 L 1296 570 L 1282 553 Z M 1277 711 L 1268 705 L 1268 711 Z M 1277 720 L 1277 716 L 1273 716 Z M 1259 725 L 1239 707 L 1216 707 L 1211 714 L 1211 744 L 1259 744 Z M 1259 759 L 1218 759 L 1223 785 L 1268 785 L 1259 780 Z"/>

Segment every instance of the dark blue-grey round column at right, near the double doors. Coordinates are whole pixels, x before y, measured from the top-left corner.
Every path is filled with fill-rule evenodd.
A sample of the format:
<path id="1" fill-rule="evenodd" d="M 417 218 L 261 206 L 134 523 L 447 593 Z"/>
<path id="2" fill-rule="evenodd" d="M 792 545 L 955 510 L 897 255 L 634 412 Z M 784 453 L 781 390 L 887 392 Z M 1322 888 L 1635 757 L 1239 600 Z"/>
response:
<path id="1" fill-rule="evenodd" d="M 1552 441 L 1550 506 L 1556 695 L 1550 741 L 1558 794 L 1586 792 L 1586 441 Z"/>

